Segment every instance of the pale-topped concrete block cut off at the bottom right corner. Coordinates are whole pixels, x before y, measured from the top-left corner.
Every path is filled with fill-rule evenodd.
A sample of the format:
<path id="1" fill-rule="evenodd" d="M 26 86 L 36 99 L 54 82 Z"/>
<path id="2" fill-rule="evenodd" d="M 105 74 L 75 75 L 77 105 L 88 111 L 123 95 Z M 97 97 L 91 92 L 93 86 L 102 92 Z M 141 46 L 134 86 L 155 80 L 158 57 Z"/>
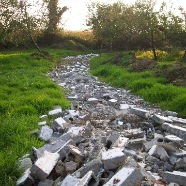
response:
<path id="1" fill-rule="evenodd" d="M 173 172 L 162 172 L 161 177 L 163 181 L 171 183 L 177 183 L 179 185 L 186 185 L 186 172 L 173 171 Z"/>

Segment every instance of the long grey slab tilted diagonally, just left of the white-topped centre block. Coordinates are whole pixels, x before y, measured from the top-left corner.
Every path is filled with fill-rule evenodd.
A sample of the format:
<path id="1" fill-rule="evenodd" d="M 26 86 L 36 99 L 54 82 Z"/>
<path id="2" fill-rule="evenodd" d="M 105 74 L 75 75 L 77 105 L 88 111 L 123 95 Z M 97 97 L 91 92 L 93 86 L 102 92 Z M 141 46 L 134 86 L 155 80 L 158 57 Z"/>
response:
<path id="1" fill-rule="evenodd" d="M 72 175 L 77 178 L 82 178 L 87 172 L 92 170 L 95 175 L 98 174 L 102 166 L 102 163 L 99 159 L 94 159 L 86 164 L 84 164 L 81 168 L 76 170 Z"/>

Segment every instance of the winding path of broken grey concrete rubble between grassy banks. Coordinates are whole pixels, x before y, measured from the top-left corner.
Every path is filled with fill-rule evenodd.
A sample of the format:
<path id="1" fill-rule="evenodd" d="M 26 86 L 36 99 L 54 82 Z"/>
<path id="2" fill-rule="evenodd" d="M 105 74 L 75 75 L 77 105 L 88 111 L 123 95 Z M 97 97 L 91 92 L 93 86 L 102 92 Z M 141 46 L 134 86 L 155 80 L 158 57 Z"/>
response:
<path id="1" fill-rule="evenodd" d="M 17 185 L 186 185 L 186 120 L 98 81 L 88 65 L 95 56 L 64 58 L 71 63 L 50 72 L 71 108 L 40 116 L 47 143 L 20 161 Z"/>

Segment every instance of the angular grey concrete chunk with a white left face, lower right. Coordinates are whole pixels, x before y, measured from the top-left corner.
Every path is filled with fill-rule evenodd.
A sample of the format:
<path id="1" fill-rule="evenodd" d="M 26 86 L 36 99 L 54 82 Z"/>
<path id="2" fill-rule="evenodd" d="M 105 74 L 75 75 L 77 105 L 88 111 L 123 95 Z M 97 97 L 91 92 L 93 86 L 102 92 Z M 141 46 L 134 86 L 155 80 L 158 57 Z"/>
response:
<path id="1" fill-rule="evenodd" d="M 152 148 L 149 150 L 148 154 L 150 156 L 160 158 L 164 161 L 169 159 L 169 155 L 167 154 L 166 150 L 163 147 L 157 145 L 153 145 Z"/>

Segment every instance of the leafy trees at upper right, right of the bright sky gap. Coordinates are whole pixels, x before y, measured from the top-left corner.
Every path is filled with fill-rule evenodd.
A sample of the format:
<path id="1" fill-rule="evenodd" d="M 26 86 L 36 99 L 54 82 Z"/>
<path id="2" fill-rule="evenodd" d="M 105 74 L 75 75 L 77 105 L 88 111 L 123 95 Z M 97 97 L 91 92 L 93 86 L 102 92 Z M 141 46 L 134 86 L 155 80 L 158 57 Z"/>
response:
<path id="1" fill-rule="evenodd" d="M 186 48 L 186 12 L 175 11 L 163 2 L 157 9 L 154 0 L 137 0 L 133 5 L 121 2 L 92 4 L 88 25 L 103 48 L 110 50 Z"/>

